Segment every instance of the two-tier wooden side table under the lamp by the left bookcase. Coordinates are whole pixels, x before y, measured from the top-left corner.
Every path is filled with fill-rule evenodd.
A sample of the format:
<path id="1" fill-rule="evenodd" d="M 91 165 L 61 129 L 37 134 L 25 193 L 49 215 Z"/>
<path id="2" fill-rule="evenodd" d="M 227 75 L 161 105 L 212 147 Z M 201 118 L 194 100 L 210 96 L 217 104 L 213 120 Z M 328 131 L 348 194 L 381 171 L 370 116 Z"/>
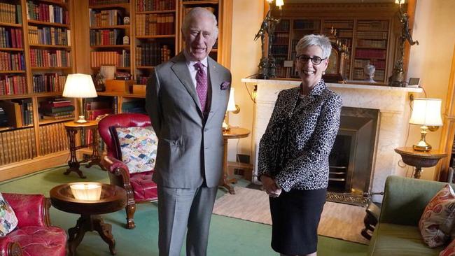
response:
<path id="1" fill-rule="evenodd" d="M 68 161 L 69 169 L 66 169 L 64 172 L 65 175 L 71 173 L 71 171 L 76 171 L 80 178 L 86 178 L 82 171 L 80 171 L 80 163 L 88 162 L 87 168 L 90 168 L 92 165 L 98 165 L 104 170 L 104 167 L 101 165 L 101 157 L 98 153 L 98 122 L 97 121 L 87 121 L 83 123 L 78 123 L 74 121 L 69 121 L 64 123 L 66 129 L 66 135 L 69 139 L 69 152 L 70 159 Z M 76 134 L 78 131 L 85 131 L 86 129 L 92 131 L 92 143 L 85 145 L 83 141 L 80 142 L 81 145 L 76 146 Z M 92 146 L 92 155 L 88 159 L 78 161 L 76 157 L 76 150 L 80 148 L 85 148 L 87 146 Z"/>

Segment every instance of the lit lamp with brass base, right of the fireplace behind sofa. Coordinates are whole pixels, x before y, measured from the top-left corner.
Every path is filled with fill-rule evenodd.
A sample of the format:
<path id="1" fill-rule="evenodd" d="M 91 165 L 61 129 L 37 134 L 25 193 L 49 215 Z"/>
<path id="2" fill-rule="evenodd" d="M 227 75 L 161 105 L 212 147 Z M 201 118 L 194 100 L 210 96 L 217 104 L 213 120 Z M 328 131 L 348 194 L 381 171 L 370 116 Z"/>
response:
<path id="1" fill-rule="evenodd" d="M 419 99 L 414 98 L 411 119 L 411 125 L 421 125 L 420 141 L 412 148 L 418 151 L 430 151 L 431 145 L 425 140 L 427 129 L 435 131 L 438 126 L 442 125 L 441 119 L 441 99 Z"/>

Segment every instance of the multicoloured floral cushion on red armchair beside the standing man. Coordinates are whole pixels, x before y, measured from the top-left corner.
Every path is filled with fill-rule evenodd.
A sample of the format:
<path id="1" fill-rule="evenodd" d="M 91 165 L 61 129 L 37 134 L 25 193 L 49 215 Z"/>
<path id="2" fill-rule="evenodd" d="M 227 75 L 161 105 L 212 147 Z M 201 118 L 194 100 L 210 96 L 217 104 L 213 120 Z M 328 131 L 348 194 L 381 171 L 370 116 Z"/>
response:
<path id="1" fill-rule="evenodd" d="M 116 130 L 122 161 L 130 173 L 153 170 L 158 148 L 158 137 L 153 127 L 118 127 Z"/>

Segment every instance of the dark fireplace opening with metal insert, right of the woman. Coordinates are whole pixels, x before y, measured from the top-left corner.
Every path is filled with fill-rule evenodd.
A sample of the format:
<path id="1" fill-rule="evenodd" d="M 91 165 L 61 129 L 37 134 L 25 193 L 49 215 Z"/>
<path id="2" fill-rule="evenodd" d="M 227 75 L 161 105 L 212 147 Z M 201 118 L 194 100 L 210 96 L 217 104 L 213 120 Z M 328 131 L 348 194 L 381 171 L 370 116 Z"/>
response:
<path id="1" fill-rule="evenodd" d="M 328 191 L 363 194 L 370 191 L 379 110 L 342 107 L 329 157 Z"/>

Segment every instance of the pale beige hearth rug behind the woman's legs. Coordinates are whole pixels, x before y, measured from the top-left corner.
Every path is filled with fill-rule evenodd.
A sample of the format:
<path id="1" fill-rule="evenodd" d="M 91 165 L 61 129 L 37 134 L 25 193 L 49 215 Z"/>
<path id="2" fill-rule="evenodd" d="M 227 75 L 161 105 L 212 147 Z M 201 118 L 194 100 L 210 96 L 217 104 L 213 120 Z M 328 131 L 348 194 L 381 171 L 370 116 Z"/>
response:
<path id="1" fill-rule="evenodd" d="M 265 192 L 235 187 L 235 194 L 225 194 L 215 201 L 214 213 L 241 220 L 272 225 L 269 197 Z M 360 235 L 365 208 L 348 204 L 325 202 L 318 234 L 356 243 L 368 244 Z"/>

